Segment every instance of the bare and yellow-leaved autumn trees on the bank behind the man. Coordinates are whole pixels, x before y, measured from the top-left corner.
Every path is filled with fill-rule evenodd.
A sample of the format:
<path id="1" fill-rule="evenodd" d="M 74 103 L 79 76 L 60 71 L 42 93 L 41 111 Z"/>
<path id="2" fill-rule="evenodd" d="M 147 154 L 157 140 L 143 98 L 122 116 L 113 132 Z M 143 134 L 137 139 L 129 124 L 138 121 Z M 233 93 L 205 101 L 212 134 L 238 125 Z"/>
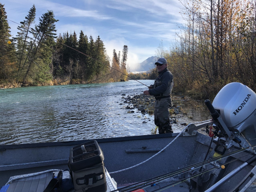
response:
<path id="1" fill-rule="evenodd" d="M 212 99 L 226 84 L 240 82 L 255 92 L 256 1 L 180 2 L 185 25 L 170 50 L 158 50 L 169 63 L 175 89 Z"/>

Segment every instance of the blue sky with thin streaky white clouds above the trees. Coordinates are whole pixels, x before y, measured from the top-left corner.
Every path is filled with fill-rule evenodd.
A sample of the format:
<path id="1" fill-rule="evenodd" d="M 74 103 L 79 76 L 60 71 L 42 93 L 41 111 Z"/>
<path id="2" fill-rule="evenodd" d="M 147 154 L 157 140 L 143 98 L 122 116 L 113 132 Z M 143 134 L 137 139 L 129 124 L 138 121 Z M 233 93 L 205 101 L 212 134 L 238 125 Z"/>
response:
<path id="1" fill-rule="evenodd" d="M 162 44 L 166 50 L 180 32 L 182 16 L 179 0 L 1 0 L 4 4 L 11 34 L 25 20 L 33 4 L 36 24 L 48 10 L 54 12 L 57 34 L 80 31 L 94 40 L 100 36 L 108 56 L 128 46 L 127 64 L 131 72 L 151 56 Z M 11 20 L 11 21 L 10 21 Z M 13 21 L 13 22 L 12 22 Z M 16 22 L 16 23 L 14 23 Z"/>

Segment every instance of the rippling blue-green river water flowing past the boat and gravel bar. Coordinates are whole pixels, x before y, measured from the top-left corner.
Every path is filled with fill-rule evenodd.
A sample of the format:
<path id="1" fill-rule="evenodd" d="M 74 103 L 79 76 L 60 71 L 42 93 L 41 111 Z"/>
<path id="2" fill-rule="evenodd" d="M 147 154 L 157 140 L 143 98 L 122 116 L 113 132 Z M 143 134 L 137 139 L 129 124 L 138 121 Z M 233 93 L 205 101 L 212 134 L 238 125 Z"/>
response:
<path id="1" fill-rule="evenodd" d="M 140 80 L 146 85 L 154 80 Z M 0 144 L 24 144 L 151 134 L 154 115 L 126 109 L 123 98 L 147 87 L 135 80 L 102 84 L 35 86 L 0 90 Z M 125 94 L 125 96 L 122 96 Z M 201 102 L 176 98 L 186 115 L 181 123 L 210 119 Z M 194 103 L 194 104 L 191 104 Z"/>

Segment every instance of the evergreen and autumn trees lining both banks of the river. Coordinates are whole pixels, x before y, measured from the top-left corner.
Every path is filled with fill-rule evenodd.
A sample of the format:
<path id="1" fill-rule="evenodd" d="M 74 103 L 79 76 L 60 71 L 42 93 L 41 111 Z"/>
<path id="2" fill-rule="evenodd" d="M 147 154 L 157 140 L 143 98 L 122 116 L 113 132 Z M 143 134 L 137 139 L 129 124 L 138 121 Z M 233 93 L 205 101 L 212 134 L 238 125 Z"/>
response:
<path id="1" fill-rule="evenodd" d="M 168 50 L 163 46 L 168 42 L 160 42 L 156 50 L 156 56 L 168 61 L 174 90 L 204 99 L 230 82 L 240 82 L 256 91 L 256 0 L 180 0 L 180 4 L 184 22 L 180 32 Z M 122 56 L 113 50 L 110 62 L 99 36 L 94 40 L 82 30 L 79 38 L 75 32 L 56 36 L 58 20 L 52 11 L 33 26 L 34 6 L 20 22 L 18 35 L 10 38 L 4 6 L 0 8 L 0 84 L 128 80 L 128 46 L 124 45 Z M 154 79 L 157 72 L 129 75 Z"/>

